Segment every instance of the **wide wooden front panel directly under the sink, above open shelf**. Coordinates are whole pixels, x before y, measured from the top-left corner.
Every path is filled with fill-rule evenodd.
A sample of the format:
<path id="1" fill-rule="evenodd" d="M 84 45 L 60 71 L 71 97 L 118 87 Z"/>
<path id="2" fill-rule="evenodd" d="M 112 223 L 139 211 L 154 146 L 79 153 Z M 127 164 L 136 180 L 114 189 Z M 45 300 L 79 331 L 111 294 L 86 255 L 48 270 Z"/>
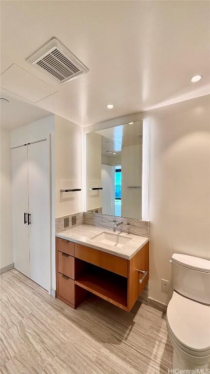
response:
<path id="1" fill-rule="evenodd" d="M 77 243 L 75 243 L 75 257 L 127 278 L 128 262 L 122 257 Z"/>

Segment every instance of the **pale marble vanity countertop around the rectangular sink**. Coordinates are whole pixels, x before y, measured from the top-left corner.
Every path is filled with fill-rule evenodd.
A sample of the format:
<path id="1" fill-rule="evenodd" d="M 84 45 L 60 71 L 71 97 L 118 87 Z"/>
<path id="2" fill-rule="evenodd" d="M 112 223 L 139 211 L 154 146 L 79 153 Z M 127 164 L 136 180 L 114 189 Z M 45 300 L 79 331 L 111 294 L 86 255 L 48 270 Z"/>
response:
<path id="1" fill-rule="evenodd" d="M 119 248 L 107 243 L 101 243 L 90 239 L 103 232 L 112 233 L 118 237 L 130 239 L 130 241 Z M 149 241 L 148 238 L 144 238 L 142 236 L 126 234 L 125 232 L 119 231 L 114 233 L 113 231 L 103 227 L 91 226 L 89 224 L 80 224 L 76 227 L 57 232 L 56 236 L 61 239 L 69 240 L 73 243 L 87 245 L 88 247 L 98 249 L 127 260 L 132 259 L 132 257 L 135 256 L 135 254 L 144 246 L 144 244 Z"/>

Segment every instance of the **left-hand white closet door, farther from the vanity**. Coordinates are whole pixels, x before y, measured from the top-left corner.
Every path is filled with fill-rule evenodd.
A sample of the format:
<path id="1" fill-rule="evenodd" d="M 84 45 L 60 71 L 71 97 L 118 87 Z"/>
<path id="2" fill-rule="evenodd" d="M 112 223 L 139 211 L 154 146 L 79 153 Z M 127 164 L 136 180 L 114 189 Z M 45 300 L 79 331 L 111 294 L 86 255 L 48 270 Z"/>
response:
<path id="1" fill-rule="evenodd" d="M 12 150 L 12 200 L 14 266 L 30 277 L 29 230 L 27 222 L 24 223 L 24 213 L 28 213 L 27 146 Z"/>

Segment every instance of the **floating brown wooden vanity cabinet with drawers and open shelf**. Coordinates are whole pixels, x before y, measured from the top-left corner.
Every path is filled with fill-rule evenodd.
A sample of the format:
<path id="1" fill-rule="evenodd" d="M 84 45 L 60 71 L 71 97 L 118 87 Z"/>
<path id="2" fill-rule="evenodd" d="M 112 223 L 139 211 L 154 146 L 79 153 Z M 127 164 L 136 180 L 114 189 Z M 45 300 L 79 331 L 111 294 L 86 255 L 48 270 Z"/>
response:
<path id="1" fill-rule="evenodd" d="M 56 237 L 56 297 L 72 308 L 91 292 L 130 311 L 148 279 L 149 242 L 126 260 Z"/>

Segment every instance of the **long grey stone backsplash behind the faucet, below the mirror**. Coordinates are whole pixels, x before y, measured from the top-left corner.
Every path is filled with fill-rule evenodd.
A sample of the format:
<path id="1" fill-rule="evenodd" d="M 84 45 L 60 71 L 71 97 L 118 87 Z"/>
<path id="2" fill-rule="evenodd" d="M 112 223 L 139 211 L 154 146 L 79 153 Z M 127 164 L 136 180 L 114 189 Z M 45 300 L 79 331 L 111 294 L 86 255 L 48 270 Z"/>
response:
<path id="1" fill-rule="evenodd" d="M 128 234 L 140 235 L 146 238 L 149 237 L 149 221 L 142 221 L 134 218 L 108 216 L 106 214 L 98 214 L 92 212 L 84 212 L 84 224 L 105 227 L 112 230 L 114 226 L 113 220 L 116 220 L 117 222 L 123 222 L 123 225 L 118 226 L 118 231 L 126 232 Z M 126 226 L 127 222 L 130 224 L 130 226 Z"/>

